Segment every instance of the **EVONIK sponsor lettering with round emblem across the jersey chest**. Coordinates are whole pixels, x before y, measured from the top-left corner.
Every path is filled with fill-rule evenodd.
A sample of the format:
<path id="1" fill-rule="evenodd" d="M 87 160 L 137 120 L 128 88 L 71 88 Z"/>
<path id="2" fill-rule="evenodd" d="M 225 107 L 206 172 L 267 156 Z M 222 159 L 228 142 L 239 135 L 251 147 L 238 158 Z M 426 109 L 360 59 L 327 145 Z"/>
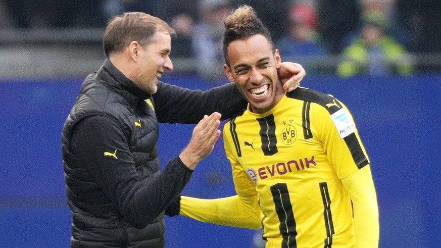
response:
<path id="1" fill-rule="evenodd" d="M 275 175 L 284 175 L 286 173 L 291 173 L 293 171 L 302 171 L 311 168 L 312 166 L 316 167 L 317 164 L 314 162 L 314 156 L 311 159 L 304 158 L 299 160 L 290 160 L 288 162 L 280 162 L 277 164 L 273 164 L 270 166 L 260 167 L 257 170 L 257 176 L 264 180 L 269 177 L 273 177 Z M 248 176 L 250 176 L 250 170 L 256 173 L 253 169 L 248 169 Z M 253 180 L 253 178 L 251 178 Z M 257 181 L 257 179 L 253 180 Z M 256 183 L 256 182 L 255 182 Z"/>

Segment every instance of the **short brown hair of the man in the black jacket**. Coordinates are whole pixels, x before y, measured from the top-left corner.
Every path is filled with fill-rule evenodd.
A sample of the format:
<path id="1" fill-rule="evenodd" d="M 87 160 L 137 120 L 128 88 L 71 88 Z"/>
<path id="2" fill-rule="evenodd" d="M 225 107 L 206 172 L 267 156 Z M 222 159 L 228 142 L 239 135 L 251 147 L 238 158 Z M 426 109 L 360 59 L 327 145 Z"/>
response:
<path id="1" fill-rule="evenodd" d="M 107 57 L 115 52 L 122 52 L 132 41 L 141 46 L 148 45 L 157 31 L 175 35 L 175 30 L 158 17 L 142 12 L 127 12 L 114 16 L 104 32 L 103 48 Z"/>

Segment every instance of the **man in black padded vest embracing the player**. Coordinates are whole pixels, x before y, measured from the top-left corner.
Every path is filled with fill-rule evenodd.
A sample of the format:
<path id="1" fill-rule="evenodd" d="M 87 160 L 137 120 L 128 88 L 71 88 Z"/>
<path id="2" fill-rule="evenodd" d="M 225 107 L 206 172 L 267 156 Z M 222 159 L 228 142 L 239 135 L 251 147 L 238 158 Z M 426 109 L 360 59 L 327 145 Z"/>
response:
<path id="1" fill-rule="evenodd" d="M 164 210 L 211 153 L 221 116 L 246 107 L 234 84 L 202 92 L 160 82 L 173 69 L 173 34 L 161 19 L 136 12 L 106 28 L 108 59 L 84 80 L 62 132 L 72 247 L 163 247 Z M 294 87 L 305 75 L 292 64 L 284 70 Z M 286 80 L 289 70 L 300 73 Z M 161 172 L 158 122 L 199 122 Z"/>

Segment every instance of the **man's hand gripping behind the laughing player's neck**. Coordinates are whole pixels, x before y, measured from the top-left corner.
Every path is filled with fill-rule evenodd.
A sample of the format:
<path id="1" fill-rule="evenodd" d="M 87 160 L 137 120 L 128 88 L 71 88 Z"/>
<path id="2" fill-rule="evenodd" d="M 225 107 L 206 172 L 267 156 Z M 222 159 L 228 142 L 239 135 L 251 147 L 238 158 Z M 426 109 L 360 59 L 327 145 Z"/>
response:
<path id="1" fill-rule="evenodd" d="M 292 62 L 282 62 L 277 69 L 277 75 L 283 85 L 283 89 L 292 91 L 300 85 L 300 81 L 305 77 L 306 71 L 300 64 Z"/>

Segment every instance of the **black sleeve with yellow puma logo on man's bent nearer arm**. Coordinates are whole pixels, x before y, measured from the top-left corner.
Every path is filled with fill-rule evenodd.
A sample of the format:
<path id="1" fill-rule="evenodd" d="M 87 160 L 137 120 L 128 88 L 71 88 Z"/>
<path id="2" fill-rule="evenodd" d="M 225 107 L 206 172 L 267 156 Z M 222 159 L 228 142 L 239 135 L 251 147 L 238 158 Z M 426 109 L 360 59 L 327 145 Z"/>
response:
<path id="1" fill-rule="evenodd" d="M 123 218 L 136 228 L 158 217 L 192 174 L 177 157 L 163 171 L 141 181 L 124 132 L 105 116 L 80 120 L 73 130 L 71 146 Z"/>

